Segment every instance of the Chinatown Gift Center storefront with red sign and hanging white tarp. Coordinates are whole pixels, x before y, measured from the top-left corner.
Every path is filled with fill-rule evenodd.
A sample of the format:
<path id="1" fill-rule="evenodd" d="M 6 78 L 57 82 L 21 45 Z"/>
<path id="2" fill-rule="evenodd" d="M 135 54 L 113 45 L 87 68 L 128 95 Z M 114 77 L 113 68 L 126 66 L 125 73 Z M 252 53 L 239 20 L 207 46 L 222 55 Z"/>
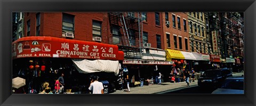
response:
<path id="1" fill-rule="evenodd" d="M 115 76 L 119 73 L 119 61 L 123 61 L 124 53 L 118 51 L 116 45 L 34 36 L 12 43 L 12 59 L 13 77 L 25 78 L 27 90 L 36 89 L 39 92 L 43 81 L 54 85 L 53 80 L 60 73 L 65 73 L 65 87 L 70 88 L 84 86 L 87 81 L 90 84 L 90 74 Z"/>

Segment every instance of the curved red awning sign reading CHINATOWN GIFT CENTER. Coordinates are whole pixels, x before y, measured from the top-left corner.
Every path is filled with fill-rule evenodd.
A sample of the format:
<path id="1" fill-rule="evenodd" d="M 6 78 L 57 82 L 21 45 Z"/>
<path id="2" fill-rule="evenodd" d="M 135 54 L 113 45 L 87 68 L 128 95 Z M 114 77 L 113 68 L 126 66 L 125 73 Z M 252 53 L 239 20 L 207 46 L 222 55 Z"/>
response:
<path id="1" fill-rule="evenodd" d="M 12 58 L 51 57 L 123 60 L 118 46 L 55 37 L 24 37 L 12 43 Z"/>

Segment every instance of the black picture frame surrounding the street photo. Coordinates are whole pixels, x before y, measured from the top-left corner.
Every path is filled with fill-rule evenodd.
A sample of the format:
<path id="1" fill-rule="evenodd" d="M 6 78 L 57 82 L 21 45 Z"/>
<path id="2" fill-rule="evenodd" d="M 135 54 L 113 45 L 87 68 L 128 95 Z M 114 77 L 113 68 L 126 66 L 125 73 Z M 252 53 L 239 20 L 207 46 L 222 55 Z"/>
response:
<path id="1" fill-rule="evenodd" d="M 0 105 L 255 105 L 255 0 L 94 0 L 0 2 Z M 12 94 L 12 12 L 244 12 L 244 95 L 213 94 Z"/>

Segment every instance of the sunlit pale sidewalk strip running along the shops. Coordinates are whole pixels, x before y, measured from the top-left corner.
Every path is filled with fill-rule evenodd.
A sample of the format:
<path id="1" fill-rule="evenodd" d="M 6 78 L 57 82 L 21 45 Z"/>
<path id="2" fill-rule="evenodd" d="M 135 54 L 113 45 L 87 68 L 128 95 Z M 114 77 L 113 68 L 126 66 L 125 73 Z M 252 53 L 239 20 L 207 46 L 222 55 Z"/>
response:
<path id="1" fill-rule="evenodd" d="M 197 80 L 195 82 L 189 83 L 190 86 L 197 85 Z M 142 87 L 130 87 L 130 92 L 126 92 L 127 89 L 117 90 L 114 93 L 110 94 L 154 94 L 159 92 L 168 91 L 170 89 L 177 89 L 177 88 L 185 88 L 187 87 L 187 83 L 185 81 L 180 83 L 170 83 L 165 82 L 161 85 L 154 84 L 154 85 L 144 85 Z"/>

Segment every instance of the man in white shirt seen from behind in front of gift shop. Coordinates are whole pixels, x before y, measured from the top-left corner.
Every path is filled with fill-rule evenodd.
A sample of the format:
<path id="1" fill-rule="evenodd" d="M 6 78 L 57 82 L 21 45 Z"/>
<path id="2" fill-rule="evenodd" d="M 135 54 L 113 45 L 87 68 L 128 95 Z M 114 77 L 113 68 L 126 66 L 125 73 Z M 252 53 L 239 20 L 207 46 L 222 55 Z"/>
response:
<path id="1" fill-rule="evenodd" d="M 89 90 L 92 94 L 103 94 L 103 84 L 98 81 L 97 76 L 93 76 Z"/>

